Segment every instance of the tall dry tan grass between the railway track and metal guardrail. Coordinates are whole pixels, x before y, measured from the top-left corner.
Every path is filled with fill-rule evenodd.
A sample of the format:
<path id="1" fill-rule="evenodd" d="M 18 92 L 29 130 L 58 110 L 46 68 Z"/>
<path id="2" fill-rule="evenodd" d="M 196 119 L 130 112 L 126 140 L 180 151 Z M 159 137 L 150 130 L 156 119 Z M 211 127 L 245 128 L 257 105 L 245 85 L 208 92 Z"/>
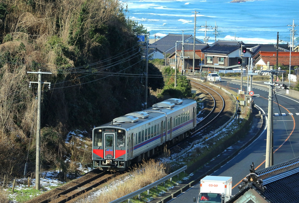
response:
<path id="1" fill-rule="evenodd" d="M 91 202 L 91 203 L 107 203 L 115 199 L 123 197 L 129 193 L 139 190 L 162 177 L 166 176 L 164 164 L 161 162 L 155 162 L 154 160 L 143 161 L 136 169 L 129 173 L 129 179 L 123 183 L 110 188 L 109 190 L 101 193 L 100 196 L 94 198 L 93 200 L 80 201 Z M 120 180 L 113 179 L 111 182 L 119 182 Z"/>

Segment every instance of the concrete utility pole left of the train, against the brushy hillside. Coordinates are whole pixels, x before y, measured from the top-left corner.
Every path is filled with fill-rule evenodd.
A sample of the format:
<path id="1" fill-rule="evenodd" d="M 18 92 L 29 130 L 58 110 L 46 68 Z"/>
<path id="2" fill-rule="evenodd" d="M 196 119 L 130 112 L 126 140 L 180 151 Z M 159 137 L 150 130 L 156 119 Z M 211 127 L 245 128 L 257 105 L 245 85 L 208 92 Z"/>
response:
<path id="1" fill-rule="evenodd" d="M 27 73 L 37 73 L 38 81 L 29 82 L 29 87 L 31 88 L 31 83 L 37 83 L 37 130 L 36 130 L 36 162 L 35 162 L 35 189 L 40 189 L 39 175 L 40 175 L 40 104 L 41 104 L 41 84 L 49 84 L 49 89 L 51 88 L 51 82 L 42 82 L 42 74 L 52 74 L 51 72 L 42 72 L 41 69 L 38 72 L 27 72 Z"/>

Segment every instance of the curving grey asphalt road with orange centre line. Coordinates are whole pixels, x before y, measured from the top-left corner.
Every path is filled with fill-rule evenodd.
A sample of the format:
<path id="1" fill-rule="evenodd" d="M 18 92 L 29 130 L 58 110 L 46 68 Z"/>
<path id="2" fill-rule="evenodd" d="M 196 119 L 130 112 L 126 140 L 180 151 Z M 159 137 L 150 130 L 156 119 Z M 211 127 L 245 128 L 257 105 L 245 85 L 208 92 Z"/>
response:
<path id="1" fill-rule="evenodd" d="M 247 89 L 243 81 L 243 88 Z M 269 87 L 263 82 L 259 85 L 254 82 L 254 94 L 259 94 L 260 97 L 254 98 L 254 103 L 259 107 L 262 113 L 268 113 L 268 97 Z M 240 82 L 224 79 L 220 84 L 229 87 L 231 91 L 236 91 L 240 88 Z M 244 86 L 245 85 L 245 86 Z M 273 94 L 273 147 L 274 147 L 274 164 L 288 161 L 299 156 L 299 102 L 296 99 L 285 96 L 285 91 L 276 89 Z M 278 106 L 279 104 L 279 106 Z M 295 125 L 297 123 L 297 126 Z M 255 169 L 261 170 L 265 168 L 265 154 L 266 154 L 266 128 L 262 131 L 254 142 L 248 144 L 237 156 L 224 164 L 216 171 L 212 171 L 209 175 L 212 176 L 232 176 L 233 190 L 232 195 L 236 194 L 241 184 L 242 179 L 250 173 L 250 165 L 254 162 Z M 180 196 L 173 199 L 172 203 L 193 202 L 193 197 L 198 197 L 199 184 L 190 190 L 182 193 Z M 197 199 L 196 199 L 197 200 Z"/>

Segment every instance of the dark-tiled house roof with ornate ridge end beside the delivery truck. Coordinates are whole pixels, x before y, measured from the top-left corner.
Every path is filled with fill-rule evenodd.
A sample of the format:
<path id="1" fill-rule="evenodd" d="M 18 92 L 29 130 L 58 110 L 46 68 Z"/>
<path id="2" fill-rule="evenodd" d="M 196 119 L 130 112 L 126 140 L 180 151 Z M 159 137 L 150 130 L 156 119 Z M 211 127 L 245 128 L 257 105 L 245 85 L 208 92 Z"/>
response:
<path id="1" fill-rule="evenodd" d="M 250 172 L 226 203 L 299 202 L 299 157 L 257 172 L 252 164 Z"/>

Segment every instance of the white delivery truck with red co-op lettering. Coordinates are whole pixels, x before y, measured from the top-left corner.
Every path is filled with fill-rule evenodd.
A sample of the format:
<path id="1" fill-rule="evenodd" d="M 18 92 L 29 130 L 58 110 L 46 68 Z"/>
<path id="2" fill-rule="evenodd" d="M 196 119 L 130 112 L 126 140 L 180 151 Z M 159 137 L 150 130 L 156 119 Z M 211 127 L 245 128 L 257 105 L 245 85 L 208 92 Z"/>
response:
<path id="1" fill-rule="evenodd" d="M 199 202 L 225 203 L 231 197 L 232 177 L 205 176 L 200 180 Z M 193 198 L 195 202 L 196 199 Z"/>

